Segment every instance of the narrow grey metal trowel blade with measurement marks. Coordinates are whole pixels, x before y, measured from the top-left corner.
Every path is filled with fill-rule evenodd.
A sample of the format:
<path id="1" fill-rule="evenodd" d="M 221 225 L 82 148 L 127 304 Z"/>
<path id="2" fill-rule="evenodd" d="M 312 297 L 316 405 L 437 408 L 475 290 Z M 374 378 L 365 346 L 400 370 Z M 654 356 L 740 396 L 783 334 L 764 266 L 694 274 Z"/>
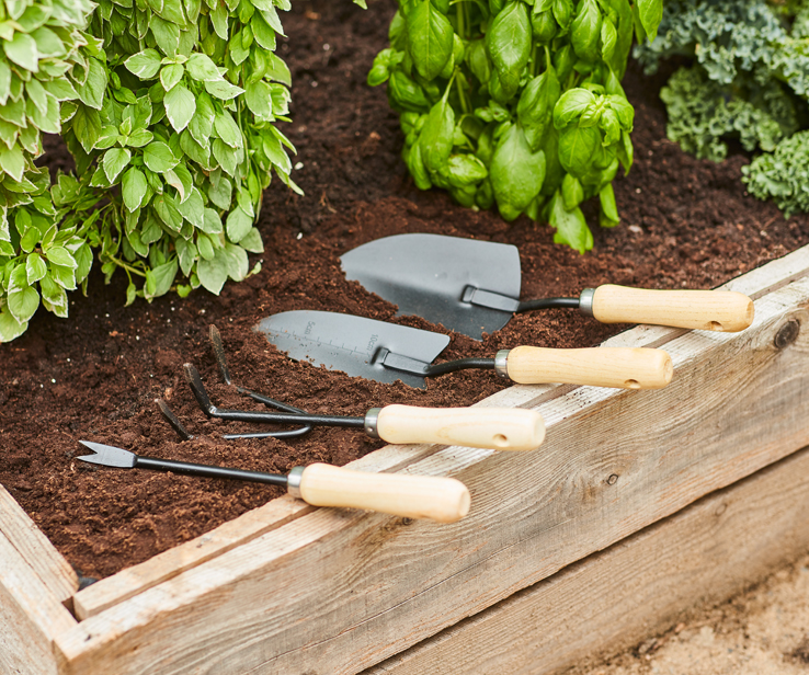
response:
<path id="1" fill-rule="evenodd" d="M 295 361 L 378 382 L 401 380 L 422 389 L 422 376 L 383 365 L 385 351 L 429 365 L 449 344 L 449 338 L 441 333 L 328 311 L 273 314 L 254 330 Z"/>

